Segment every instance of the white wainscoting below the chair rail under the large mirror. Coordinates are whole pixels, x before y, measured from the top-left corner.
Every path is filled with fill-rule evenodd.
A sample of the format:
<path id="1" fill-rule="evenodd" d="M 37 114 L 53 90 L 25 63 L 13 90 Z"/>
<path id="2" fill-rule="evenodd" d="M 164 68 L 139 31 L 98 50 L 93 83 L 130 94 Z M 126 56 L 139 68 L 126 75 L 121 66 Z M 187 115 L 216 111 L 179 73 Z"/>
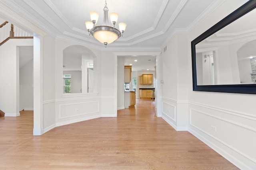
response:
<path id="1" fill-rule="evenodd" d="M 189 131 L 241 169 L 256 169 L 254 115 L 190 104 Z"/>

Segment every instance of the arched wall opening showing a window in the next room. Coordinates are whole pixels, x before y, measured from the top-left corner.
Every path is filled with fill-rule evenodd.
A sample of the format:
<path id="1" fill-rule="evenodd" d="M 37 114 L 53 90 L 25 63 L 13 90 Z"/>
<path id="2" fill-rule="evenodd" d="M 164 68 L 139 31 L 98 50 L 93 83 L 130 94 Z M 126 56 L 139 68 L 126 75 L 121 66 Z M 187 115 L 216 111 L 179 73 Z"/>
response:
<path id="1" fill-rule="evenodd" d="M 86 47 L 72 45 L 63 50 L 63 93 L 94 91 L 94 61 Z"/>

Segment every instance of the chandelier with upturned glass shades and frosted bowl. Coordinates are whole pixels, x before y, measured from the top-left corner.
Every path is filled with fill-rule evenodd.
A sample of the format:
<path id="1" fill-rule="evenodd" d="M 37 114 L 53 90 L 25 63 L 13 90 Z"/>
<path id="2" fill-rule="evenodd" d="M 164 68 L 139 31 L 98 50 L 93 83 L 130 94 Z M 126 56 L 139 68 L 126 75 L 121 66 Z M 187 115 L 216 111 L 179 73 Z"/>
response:
<path id="1" fill-rule="evenodd" d="M 116 41 L 119 37 L 123 36 L 124 30 L 126 28 L 126 23 L 119 23 L 119 29 L 115 28 L 118 14 L 116 13 L 110 13 L 110 20 L 113 24 L 113 27 L 109 25 L 108 21 L 108 7 L 107 7 L 107 1 L 105 0 L 105 7 L 103 8 L 104 11 L 104 20 L 102 25 L 97 26 L 96 23 L 99 18 L 99 14 L 97 12 L 90 12 L 91 21 L 85 22 L 86 29 L 89 32 L 89 35 L 92 35 L 95 39 L 100 41 L 105 45 L 105 47 Z"/>

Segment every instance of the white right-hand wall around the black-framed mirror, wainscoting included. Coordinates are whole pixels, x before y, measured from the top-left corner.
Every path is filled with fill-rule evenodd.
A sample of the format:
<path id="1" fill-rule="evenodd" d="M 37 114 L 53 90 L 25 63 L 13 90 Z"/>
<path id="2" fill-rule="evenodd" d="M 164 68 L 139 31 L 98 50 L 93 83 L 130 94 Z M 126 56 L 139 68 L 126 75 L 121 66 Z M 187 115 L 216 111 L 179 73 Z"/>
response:
<path id="1" fill-rule="evenodd" d="M 188 34 L 187 43 L 246 1 L 227 0 Z M 184 49 L 186 50 L 186 49 Z M 256 169 L 256 96 L 192 91 L 188 47 L 188 131 L 242 170 Z M 179 113 L 177 113 L 179 114 Z M 216 127 L 216 131 L 211 129 Z"/>

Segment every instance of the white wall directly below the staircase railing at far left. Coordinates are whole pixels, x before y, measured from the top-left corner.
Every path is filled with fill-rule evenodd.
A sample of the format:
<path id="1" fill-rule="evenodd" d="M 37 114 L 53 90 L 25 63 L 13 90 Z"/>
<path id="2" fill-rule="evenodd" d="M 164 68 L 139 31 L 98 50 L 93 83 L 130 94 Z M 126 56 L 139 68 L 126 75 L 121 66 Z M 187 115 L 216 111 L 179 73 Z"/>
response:
<path id="1" fill-rule="evenodd" d="M 19 49 L 17 46 L 32 46 L 33 39 L 10 39 L 0 47 L 0 109 L 5 116 L 19 113 Z"/>

